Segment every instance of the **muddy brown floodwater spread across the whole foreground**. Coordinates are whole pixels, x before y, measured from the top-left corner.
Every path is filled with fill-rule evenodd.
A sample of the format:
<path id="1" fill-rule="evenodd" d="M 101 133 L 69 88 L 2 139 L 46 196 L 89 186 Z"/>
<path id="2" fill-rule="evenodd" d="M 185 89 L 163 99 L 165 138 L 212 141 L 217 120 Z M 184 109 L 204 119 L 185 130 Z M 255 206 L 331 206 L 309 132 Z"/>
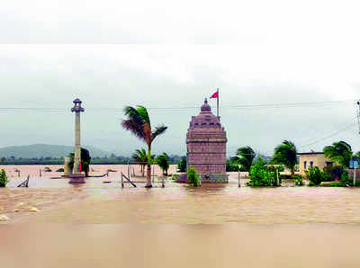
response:
<path id="1" fill-rule="evenodd" d="M 0 225 L 0 267 L 359 267 L 359 188 L 251 188 L 244 179 L 238 188 L 229 175 L 200 188 L 161 188 L 156 178 L 147 190 L 136 178 L 139 187 L 121 189 L 111 174 L 0 189 L 10 218 Z"/>

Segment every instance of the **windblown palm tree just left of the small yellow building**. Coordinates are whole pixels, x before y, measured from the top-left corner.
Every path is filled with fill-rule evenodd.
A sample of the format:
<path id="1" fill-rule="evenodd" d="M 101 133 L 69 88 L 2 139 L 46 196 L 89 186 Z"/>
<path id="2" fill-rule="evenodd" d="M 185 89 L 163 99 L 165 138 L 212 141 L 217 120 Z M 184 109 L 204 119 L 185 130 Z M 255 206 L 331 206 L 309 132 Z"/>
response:
<path id="1" fill-rule="evenodd" d="M 290 169 L 295 174 L 295 165 L 298 164 L 298 153 L 293 141 L 284 140 L 282 144 L 275 147 L 273 161 Z"/>

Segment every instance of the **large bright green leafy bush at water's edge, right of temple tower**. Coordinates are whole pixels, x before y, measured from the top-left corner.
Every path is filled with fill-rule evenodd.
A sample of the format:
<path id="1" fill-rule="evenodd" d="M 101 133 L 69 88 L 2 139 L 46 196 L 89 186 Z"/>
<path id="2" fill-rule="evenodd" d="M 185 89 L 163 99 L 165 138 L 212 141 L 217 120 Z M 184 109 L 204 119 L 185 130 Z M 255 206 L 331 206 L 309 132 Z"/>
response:
<path id="1" fill-rule="evenodd" d="M 249 179 L 250 186 L 276 186 L 276 172 L 270 171 L 261 158 L 251 166 Z"/>

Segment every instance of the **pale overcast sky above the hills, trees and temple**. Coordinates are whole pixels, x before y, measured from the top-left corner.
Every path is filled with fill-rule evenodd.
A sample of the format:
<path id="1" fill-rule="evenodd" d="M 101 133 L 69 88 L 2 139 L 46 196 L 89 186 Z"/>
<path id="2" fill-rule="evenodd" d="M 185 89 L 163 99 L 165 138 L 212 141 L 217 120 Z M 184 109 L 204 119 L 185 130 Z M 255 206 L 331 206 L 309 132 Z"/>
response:
<path id="1" fill-rule="evenodd" d="M 169 127 L 155 151 L 184 154 L 191 116 L 219 87 L 229 155 L 246 145 L 270 155 L 284 138 L 301 151 L 339 139 L 360 150 L 359 10 L 319 0 L 6 1 L 0 108 L 54 110 L 0 110 L 0 147 L 72 145 L 79 97 L 84 144 L 141 147 L 120 122 L 125 105 L 142 104 Z"/>

